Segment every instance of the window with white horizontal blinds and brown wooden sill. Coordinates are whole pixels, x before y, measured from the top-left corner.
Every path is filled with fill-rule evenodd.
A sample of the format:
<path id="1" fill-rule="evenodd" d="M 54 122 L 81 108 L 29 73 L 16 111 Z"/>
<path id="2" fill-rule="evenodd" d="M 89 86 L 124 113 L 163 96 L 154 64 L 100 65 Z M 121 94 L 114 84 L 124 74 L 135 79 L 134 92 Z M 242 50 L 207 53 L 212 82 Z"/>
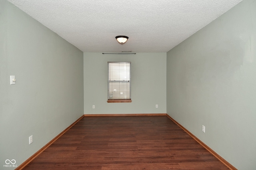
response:
<path id="1" fill-rule="evenodd" d="M 108 103 L 132 102 L 131 62 L 108 62 Z"/>

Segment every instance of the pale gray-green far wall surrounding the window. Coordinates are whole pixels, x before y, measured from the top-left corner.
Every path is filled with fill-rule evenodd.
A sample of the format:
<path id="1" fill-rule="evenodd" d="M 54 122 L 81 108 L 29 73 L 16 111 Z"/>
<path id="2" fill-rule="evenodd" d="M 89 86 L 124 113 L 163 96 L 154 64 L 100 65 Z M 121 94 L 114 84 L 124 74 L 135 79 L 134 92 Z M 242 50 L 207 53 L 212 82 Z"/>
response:
<path id="1" fill-rule="evenodd" d="M 132 62 L 132 103 L 107 103 L 108 61 Z M 84 114 L 129 113 L 166 113 L 166 53 L 84 53 Z"/>

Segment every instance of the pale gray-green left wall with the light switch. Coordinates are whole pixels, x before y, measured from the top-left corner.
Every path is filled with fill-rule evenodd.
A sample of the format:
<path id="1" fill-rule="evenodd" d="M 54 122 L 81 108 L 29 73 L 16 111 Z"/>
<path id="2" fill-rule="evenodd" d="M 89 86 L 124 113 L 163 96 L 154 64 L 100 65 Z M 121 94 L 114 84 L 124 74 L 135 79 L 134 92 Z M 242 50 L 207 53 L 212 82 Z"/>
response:
<path id="1" fill-rule="evenodd" d="M 83 93 L 82 51 L 0 0 L 0 169 L 7 159 L 20 165 L 81 117 Z"/>

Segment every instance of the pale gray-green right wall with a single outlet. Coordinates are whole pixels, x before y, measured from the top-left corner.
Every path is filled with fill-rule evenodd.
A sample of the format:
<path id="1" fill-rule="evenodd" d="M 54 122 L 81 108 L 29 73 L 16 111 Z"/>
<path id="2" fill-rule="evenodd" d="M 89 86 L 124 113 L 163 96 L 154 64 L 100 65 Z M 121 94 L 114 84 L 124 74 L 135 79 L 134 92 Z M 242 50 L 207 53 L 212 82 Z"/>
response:
<path id="1" fill-rule="evenodd" d="M 167 113 L 239 170 L 255 170 L 255 0 L 167 53 Z"/>

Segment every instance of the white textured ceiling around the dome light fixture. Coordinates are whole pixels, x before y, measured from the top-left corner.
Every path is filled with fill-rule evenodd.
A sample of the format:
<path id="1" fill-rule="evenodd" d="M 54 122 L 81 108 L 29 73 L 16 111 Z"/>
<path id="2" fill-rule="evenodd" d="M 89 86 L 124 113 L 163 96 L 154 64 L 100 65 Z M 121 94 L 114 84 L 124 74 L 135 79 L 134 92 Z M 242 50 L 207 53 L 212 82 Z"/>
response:
<path id="1" fill-rule="evenodd" d="M 9 0 L 84 52 L 167 52 L 241 1 Z"/>

